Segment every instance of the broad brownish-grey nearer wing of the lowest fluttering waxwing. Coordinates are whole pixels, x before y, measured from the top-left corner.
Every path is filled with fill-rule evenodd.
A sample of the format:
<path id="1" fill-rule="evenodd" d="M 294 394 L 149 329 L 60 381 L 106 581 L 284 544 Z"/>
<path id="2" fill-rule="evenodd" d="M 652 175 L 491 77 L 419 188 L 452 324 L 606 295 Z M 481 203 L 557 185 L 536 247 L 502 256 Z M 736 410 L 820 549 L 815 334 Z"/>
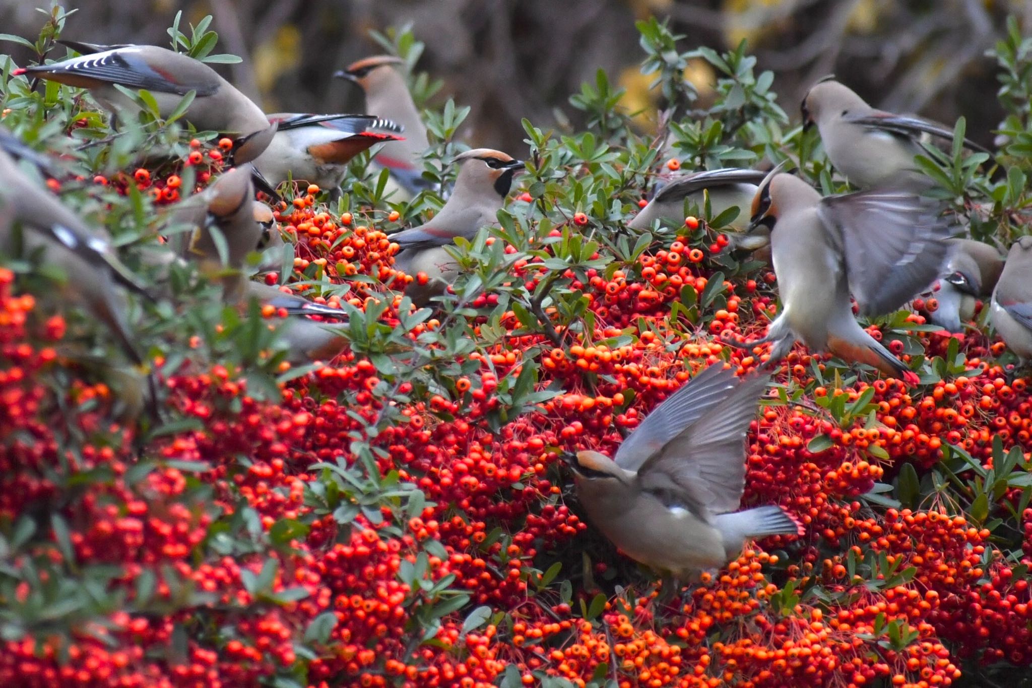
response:
<path id="1" fill-rule="evenodd" d="M 737 511 L 745 487 L 745 434 L 769 381 L 769 373 L 755 374 L 722 393 L 717 403 L 642 464 L 642 489 L 677 489 L 711 514 Z"/>

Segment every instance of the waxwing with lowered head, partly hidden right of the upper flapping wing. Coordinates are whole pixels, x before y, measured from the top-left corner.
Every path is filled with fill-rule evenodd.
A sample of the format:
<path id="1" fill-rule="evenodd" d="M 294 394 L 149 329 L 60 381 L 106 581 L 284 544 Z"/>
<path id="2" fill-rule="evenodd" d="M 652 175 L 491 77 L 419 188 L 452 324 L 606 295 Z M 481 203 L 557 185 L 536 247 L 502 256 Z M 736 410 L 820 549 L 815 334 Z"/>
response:
<path id="1" fill-rule="evenodd" d="M 949 332 L 961 332 L 962 323 L 974 318 L 975 301 L 992 295 L 1003 270 L 996 248 L 971 239 L 949 239 L 949 254 L 932 296 L 938 307 L 929 320 Z"/>

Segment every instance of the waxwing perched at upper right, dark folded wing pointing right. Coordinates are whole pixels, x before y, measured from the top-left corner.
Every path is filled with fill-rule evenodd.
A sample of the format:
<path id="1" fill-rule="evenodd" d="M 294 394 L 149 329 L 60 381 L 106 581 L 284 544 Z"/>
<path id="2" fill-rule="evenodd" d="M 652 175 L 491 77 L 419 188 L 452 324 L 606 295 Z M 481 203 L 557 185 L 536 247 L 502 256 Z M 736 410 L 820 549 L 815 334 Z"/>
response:
<path id="1" fill-rule="evenodd" d="M 954 137 L 953 129 L 934 122 L 871 107 L 834 79 L 814 85 L 803 98 L 801 110 L 803 129 L 817 125 L 832 165 L 861 189 L 930 184 L 913 160 L 925 153 L 918 138 L 922 134 Z M 964 144 L 988 153 L 968 139 Z"/>

